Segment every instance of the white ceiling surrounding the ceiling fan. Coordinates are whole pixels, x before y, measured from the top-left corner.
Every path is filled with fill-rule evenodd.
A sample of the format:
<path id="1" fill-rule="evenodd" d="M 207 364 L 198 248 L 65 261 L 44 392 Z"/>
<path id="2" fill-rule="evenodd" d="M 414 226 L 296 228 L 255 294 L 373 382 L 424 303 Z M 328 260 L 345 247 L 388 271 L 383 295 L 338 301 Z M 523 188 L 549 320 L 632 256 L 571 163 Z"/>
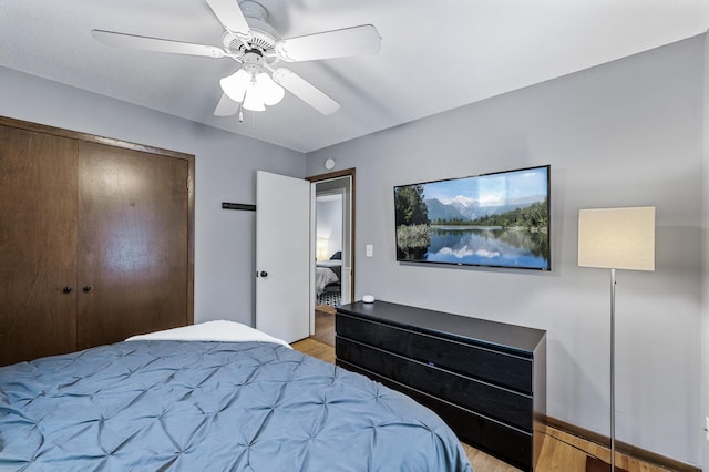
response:
<path id="1" fill-rule="evenodd" d="M 236 1 L 236 0 L 235 0 Z M 376 55 L 288 66 L 342 107 L 295 96 L 217 117 L 230 59 L 111 48 L 91 29 L 222 45 L 205 0 L 0 0 L 0 65 L 300 152 L 705 33 L 709 0 L 259 0 L 282 38 L 371 23 Z M 0 84 L 1 86 L 1 84 Z M 51 98 L 47 98 L 51 100 Z"/>

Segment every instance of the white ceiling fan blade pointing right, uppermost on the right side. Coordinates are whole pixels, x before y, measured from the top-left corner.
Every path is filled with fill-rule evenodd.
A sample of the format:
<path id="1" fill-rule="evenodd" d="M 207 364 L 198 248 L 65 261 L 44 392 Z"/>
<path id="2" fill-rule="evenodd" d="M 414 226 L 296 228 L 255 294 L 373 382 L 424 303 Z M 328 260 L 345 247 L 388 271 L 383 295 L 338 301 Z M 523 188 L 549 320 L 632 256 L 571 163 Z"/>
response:
<path id="1" fill-rule="evenodd" d="M 380 48 L 381 38 L 372 24 L 307 34 L 276 43 L 278 57 L 288 62 L 374 54 Z"/>

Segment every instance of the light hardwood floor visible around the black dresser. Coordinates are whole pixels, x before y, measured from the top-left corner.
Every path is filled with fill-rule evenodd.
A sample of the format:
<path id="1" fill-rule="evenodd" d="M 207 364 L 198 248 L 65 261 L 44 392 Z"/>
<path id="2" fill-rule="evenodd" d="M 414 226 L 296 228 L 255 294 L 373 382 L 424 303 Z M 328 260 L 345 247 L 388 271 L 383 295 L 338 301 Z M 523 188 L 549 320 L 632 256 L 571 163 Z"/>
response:
<path id="1" fill-rule="evenodd" d="M 314 338 L 294 342 L 292 347 L 298 351 L 326 362 L 335 362 L 335 348 Z M 518 471 L 518 469 L 485 454 L 472 445 L 462 444 L 475 472 Z M 587 455 L 594 455 L 607 462 L 610 460 L 610 451 L 608 448 L 547 427 L 536 470 L 540 472 L 584 472 Z M 616 466 L 623 468 L 627 472 L 661 472 L 671 470 L 618 453 L 616 453 Z"/>

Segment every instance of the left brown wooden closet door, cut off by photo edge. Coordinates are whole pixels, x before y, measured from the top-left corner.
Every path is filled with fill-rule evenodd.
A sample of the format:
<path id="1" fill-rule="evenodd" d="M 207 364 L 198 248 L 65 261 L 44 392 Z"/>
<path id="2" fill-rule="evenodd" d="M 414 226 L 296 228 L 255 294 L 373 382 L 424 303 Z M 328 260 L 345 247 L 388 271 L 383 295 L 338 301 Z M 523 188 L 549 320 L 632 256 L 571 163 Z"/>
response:
<path id="1" fill-rule="evenodd" d="M 2 366 L 74 350 L 76 155 L 73 140 L 0 125 Z"/>

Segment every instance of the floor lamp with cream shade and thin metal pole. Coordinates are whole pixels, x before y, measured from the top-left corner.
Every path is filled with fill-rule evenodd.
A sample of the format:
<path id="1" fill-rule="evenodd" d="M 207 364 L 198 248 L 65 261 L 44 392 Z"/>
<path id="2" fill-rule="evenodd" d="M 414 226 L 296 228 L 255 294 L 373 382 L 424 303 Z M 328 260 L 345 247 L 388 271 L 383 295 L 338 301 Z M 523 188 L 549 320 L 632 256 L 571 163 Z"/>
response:
<path id="1" fill-rule="evenodd" d="M 588 456 L 586 471 L 615 471 L 616 269 L 655 270 L 655 207 L 579 211 L 578 266 L 610 269 L 610 464 Z"/>

